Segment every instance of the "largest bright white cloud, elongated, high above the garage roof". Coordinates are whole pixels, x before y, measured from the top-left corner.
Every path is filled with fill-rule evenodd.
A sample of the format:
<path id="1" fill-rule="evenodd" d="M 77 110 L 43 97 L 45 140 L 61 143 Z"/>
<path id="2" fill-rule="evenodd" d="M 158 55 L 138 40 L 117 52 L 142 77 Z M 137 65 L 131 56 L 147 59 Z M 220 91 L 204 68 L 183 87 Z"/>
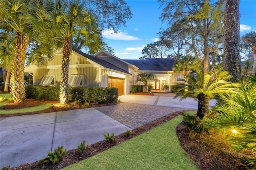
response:
<path id="1" fill-rule="evenodd" d="M 134 37 L 134 36 L 129 36 L 127 35 L 127 32 L 118 32 L 117 34 L 114 33 L 113 30 L 106 30 L 104 32 L 102 32 L 102 35 L 104 36 L 104 38 L 106 39 L 110 39 L 110 40 L 140 40 L 138 37 Z"/>

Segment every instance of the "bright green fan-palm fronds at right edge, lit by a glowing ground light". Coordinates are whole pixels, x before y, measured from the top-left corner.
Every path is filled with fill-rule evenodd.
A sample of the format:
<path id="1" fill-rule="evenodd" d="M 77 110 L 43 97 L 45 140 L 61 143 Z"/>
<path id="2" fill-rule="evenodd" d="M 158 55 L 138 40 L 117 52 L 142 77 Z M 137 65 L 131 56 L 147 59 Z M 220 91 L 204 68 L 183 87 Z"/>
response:
<path id="1" fill-rule="evenodd" d="M 206 125 L 227 132 L 227 138 L 236 150 L 256 149 L 256 76 L 240 80 L 238 93 L 226 94 L 212 108 L 214 118 Z M 256 168 L 256 160 L 254 161 Z"/>

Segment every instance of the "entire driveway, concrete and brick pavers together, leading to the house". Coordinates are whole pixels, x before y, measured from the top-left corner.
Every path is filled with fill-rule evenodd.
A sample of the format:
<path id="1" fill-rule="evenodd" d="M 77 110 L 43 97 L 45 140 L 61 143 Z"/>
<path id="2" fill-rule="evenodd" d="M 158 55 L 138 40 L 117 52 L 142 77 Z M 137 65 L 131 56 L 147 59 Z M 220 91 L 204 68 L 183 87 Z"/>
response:
<path id="1" fill-rule="evenodd" d="M 92 144 L 107 132 L 118 135 L 175 111 L 197 109 L 193 99 L 172 96 L 124 95 L 118 105 L 1 119 L 0 168 L 45 158 L 57 146 L 74 149 L 82 140 Z"/>

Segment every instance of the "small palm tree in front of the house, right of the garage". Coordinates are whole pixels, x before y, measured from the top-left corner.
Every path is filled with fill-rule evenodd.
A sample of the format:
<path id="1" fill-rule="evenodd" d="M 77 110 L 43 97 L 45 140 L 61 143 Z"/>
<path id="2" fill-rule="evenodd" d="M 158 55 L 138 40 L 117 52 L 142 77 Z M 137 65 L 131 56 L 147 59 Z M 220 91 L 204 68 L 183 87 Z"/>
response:
<path id="1" fill-rule="evenodd" d="M 153 73 L 138 73 L 136 78 L 136 83 L 139 81 L 144 83 L 143 92 L 148 92 L 148 85 L 150 82 L 158 80 Z"/>

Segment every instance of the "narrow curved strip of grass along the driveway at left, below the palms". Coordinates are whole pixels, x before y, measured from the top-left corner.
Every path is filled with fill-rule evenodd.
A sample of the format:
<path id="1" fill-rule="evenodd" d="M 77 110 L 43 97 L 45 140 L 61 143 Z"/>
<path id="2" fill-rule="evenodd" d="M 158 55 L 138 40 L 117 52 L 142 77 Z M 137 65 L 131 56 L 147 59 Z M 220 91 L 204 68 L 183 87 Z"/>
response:
<path id="1" fill-rule="evenodd" d="M 29 113 L 35 111 L 42 111 L 45 109 L 49 109 L 51 107 L 50 104 L 38 105 L 34 107 L 26 107 L 21 109 L 6 109 L 1 110 L 1 115 L 8 115 L 8 114 L 16 114 L 16 113 Z"/>

